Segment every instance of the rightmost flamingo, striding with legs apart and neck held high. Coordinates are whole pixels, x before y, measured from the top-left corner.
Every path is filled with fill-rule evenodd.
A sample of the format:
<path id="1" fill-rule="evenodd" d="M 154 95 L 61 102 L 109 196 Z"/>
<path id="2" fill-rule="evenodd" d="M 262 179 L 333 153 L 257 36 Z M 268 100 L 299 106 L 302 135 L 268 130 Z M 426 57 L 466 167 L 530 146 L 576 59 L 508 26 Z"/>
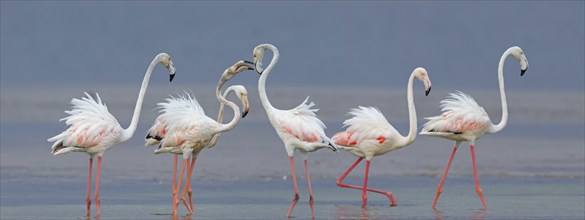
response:
<path id="1" fill-rule="evenodd" d="M 498 81 L 500 84 L 500 96 L 502 99 L 502 119 L 497 124 L 492 124 L 488 114 L 485 110 L 471 98 L 460 91 L 451 93 L 449 96 L 441 101 L 442 114 L 439 116 L 426 118 L 429 121 L 425 123 L 421 131 L 421 135 L 441 137 L 455 141 L 455 147 L 451 152 L 451 157 L 445 171 L 441 176 L 439 185 L 437 186 L 437 194 L 433 201 L 432 208 L 435 208 L 439 196 L 443 191 L 443 183 L 449 172 L 451 161 L 459 145 L 467 141 L 470 144 L 471 160 L 473 163 L 473 175 L 475 179 L 475 191 L 481 199 L 484 209 L 487 209 L 485 199 L 483 197 L 483 190 L 479 185 L 477 169 L 475 165 L 475 140 L 484 134 L 493 134 L 501 131 L 508 123 L 508 104 L 506 102 L 506 92 L 504 90 L 504 61 L 508 56 L 512 55 L 516 61 L 520 63 L 520 76 L 523 76 L 528 69 L 528 60 L 524 55 L 524 51 L 520 47 L 513 46 L 508 48 L 502 57 L 498 66 Z"/>

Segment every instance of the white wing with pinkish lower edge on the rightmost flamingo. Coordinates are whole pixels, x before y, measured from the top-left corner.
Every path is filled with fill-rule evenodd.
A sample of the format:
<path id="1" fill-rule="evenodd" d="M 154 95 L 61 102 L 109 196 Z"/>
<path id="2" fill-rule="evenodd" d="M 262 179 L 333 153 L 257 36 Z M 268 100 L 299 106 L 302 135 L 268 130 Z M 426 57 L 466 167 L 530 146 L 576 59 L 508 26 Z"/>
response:
<path id="1" fill-rule="evenodd" d="M 460 91 L 451 93 L 441 101 L 439 116 L 426 118 L 429 120 L 423 125 L 421 134 L 432 133 L 478 133 L 484 131 L 491 124 L 485 110 L 472 97 Z"/>

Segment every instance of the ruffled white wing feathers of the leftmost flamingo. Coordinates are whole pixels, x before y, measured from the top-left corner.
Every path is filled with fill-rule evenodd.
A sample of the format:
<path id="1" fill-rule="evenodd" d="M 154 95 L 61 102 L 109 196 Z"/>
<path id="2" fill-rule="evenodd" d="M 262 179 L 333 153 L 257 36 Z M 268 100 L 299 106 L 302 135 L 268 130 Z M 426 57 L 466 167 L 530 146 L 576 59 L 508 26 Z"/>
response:
<path id="1" fill-rule="evenodd" d="M 96 99 L 85 92 L 86 97 L 71 100 L 69 116 L 62 118 L 69 127 L 60 134 L 49 138 L 53 143 L 53 153 L 62 148 L 89 148 L 99 144 L 115 144 L 122 128 L 108 107 L 96 93 Z M 111 142 L 111 143 L 106 143 Z"/>

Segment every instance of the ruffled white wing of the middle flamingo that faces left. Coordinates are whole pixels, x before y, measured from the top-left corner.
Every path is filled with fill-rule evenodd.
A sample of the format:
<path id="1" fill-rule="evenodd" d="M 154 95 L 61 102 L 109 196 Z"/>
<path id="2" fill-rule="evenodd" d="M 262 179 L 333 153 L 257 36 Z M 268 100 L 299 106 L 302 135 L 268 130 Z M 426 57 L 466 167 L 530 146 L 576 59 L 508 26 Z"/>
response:
<path id="1" fill-rule="evenodd" d="M 292 135 L 300 141 L 309 143 L 321 142 L 334 146 L 331 139 L 325 135 L 324 129 L 327 127 L 315 114 L 319 109 L 312 109 L 311 107 L 315 103 L 308 103 L 308 100 L 309 97 L 293 109 L 279 111 L 278 129 L 283 133 Z"/>

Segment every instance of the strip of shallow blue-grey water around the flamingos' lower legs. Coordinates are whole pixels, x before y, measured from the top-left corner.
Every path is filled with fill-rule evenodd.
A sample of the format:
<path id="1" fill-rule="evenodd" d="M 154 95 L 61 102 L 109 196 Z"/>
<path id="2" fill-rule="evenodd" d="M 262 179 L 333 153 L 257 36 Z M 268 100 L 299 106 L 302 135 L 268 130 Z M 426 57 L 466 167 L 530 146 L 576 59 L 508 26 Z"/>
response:
<path id="1" fill-rule="evenodd" d="M 481 177 L 489 209 L 481 209 L 471 178 L 448 178 L 438 210 L 431 209 L 436 177 L 372 177 L 371 187 L 390 190 L 398 206 L 385 196 L 341 189 L 333 179 L 313 181 L 317 219 L 582 219 L 583 178 Z M 361 178 L 346 179 L 359 184 Z M 304 180 L 293 218 L 309 219 Z M 170 216 L 169 181 L 122 181 L 101 187 L 102 215 L 92 219 L 280 219 L 292 199 L 290 179 L 268 181 L 200 181 L 194 179 L 195 214 Z M 83 184 L 2 184 L 2 219 L 82 219 Z M 48 190 L 50 189 L 50 190 Z M 22 192 L 27 192 L 23 194 Z"/>

